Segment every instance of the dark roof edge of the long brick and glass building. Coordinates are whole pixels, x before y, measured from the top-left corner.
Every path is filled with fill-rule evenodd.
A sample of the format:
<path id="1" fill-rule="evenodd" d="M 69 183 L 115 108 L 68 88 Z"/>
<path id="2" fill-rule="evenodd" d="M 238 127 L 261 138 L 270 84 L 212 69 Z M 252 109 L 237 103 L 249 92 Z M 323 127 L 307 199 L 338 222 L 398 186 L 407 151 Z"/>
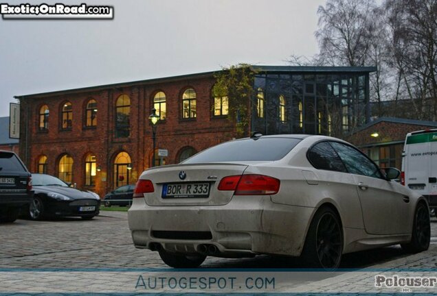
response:
<path id="1" fill-rule="evenodd" d="M 260 72 L 269 72 L 269 73 L 370 73 L 377 71 L 377 68 L 374 66 L 363 66 L 363 67 L 349 67 L 349 66 L 258 66 L 252 65 L 252 69 Z M 96 91 L 102 90 L 106 88 L 121 88 L 121 87 L 129 87 L 129 86 L 139 86 L 144 84 L 157 84 L 162 82 L 170 82 L 170 81 L 178 81 L 183 79 L 190 78 L 201 78 L 201 77 L 212 77 L 215 73 L 219 73 L 219 71 L 209 71 L 203 73 L 192 73 L 186 75 L 177 75 L 171 77 L 161 77 L 161 78 L 153 78 L 153 79 L 144 79 L 137 80 L 133 82 L 120 82 L 116 84 L 104 84 L 100 86 L 88 86 L 84 88 L 72 88 L 68 90 L 55 90 L 47 93 L 36 93 L 30 95 L 18 95 L 14 96 L 16 99 L 26 99 L 32 97 L 47 97 L 47 96 L 56 96 L 63 95 L 66 93 L 83 93 L 87 91 Z"/>

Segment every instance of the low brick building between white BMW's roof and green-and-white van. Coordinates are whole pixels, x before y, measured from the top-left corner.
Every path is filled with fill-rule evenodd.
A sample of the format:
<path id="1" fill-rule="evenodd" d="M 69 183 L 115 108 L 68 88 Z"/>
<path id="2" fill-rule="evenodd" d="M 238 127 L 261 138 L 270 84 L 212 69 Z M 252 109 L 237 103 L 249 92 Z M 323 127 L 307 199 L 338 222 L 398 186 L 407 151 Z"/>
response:
<path id="1" fill-rule="evenodd" d="M 359 147 L 379 167 L 401 170 L 405 136 L 409 132 L 432 128 L 437 128 L 437 122 L 381 117 L 360 127 L 345 140 Z"/>

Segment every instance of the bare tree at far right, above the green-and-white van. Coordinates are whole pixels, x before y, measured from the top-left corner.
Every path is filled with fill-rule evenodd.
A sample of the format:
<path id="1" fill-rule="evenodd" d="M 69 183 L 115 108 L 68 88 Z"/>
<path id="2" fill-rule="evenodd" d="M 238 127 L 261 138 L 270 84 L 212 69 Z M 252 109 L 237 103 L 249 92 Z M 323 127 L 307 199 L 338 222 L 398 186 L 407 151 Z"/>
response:
<path id="1" fill-rule="evenodd" d="M 399 90 L 418 119 L 437 119 L 437 0 L 387 0 Z"/>

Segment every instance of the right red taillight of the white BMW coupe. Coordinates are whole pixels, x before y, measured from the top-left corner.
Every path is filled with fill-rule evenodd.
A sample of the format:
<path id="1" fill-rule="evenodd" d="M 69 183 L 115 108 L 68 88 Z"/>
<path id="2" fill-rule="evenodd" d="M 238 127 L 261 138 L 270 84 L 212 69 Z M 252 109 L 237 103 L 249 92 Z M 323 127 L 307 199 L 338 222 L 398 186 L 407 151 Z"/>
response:
<path id="1" fill-rule="evenodd" d="M 235 190 L 234 195 L 274 195 L 279 187 L 280 180 L 266 175 L 234 175 L 219 184 L 219 190 Z"/>

